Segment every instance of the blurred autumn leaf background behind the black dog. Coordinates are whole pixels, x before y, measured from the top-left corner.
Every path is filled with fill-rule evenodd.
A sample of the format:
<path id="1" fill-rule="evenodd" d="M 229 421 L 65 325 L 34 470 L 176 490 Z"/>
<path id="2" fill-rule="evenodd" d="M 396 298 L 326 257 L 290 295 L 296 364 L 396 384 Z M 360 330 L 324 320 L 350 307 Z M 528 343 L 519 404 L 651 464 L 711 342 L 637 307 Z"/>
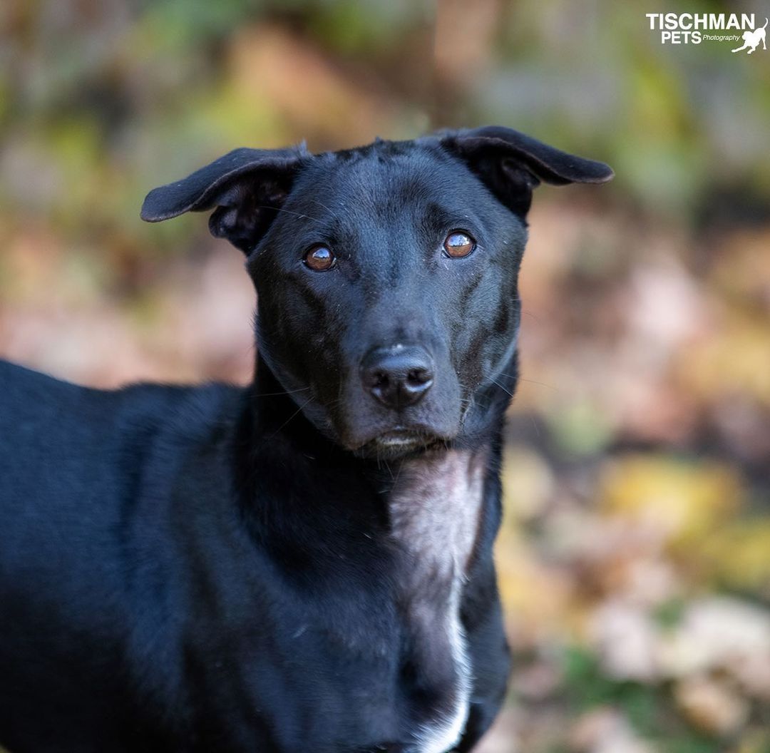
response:
<path id="1" fill-rule="evenodd" d="M 495 123 L 614 167 L 531 213 L 483 753 L 770 751 L 770 51 L 669 11 L 770 6 L 0 5 L 0 354 L 67 380 L 249 380 L 241 253 L 139 221 L 235 146 Z"/>

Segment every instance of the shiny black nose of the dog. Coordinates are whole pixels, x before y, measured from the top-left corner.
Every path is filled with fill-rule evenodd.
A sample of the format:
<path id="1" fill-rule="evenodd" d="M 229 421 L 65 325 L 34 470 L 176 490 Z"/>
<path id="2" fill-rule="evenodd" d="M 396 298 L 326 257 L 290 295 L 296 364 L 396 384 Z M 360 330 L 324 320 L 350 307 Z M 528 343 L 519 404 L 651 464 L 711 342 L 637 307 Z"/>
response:
<path id="1" fill-rule="evenodd" d="M 414 405 L 430 390 L 434 363 L 420 346 L 375 348 L 361 363 L 363 388 L 389 408 Z"/>

